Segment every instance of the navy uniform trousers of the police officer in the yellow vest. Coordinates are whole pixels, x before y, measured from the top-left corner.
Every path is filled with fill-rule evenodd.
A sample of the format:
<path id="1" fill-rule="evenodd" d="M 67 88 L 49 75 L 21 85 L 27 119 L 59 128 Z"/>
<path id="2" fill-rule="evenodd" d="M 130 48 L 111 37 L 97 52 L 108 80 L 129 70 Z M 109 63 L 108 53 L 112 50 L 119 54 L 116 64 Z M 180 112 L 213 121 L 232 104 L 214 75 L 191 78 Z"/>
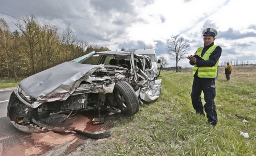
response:
<path id="1" fill-rule="evenodd" d="M 202 103 L 201 93 L 204 93 L 205 105 Z M 210 78 L 198 78 L 194 77 L 191 100 L 196 113 L 204 115 L 206 112 L 206 117 L 208 123 L 215 126 L 218 122 L 216 105 L 214 102 L 214 97 L 216 96 L 215 90 L 215 80 Z"/>

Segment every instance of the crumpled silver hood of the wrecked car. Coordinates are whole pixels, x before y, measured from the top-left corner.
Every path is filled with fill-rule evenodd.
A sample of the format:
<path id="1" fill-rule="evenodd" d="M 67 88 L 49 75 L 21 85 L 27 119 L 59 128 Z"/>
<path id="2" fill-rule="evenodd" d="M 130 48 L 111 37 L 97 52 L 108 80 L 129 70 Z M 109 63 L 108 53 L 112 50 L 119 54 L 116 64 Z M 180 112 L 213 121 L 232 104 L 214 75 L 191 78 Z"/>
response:
<path id="1" fill-rule="evenodd" d="M 19 86 L 37 101 L 65 100 L 76 90 L 80 82 L 103 65 L 64 62 L 25 78 Z"/>

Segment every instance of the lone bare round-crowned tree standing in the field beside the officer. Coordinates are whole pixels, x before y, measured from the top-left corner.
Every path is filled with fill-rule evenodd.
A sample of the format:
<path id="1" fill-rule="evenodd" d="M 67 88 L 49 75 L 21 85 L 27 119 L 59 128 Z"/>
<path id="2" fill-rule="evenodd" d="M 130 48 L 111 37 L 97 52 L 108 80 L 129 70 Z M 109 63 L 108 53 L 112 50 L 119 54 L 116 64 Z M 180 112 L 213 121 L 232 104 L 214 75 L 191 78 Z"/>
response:
<path id="1" fill-rule="evenodd" d="M 172 59 L 176 60 L 176 72 L 178 72 L 179 60 L 186 58 L 189 50 L 190 45 L 179 35 L 172 35 L 170 39 L 166 40 L 166 51 Z"/>

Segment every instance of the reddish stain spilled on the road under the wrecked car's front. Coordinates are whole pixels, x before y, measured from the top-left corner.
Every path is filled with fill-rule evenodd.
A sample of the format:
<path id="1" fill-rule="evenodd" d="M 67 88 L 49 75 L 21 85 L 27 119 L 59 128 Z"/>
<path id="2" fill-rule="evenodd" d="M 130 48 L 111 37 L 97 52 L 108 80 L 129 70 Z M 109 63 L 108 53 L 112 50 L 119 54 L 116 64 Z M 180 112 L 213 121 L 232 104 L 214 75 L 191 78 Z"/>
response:
<path id="1" fill-rule="evenodd" d="M 76 120 L 70 127 L 76 127 L 76 129 L 93 132 L 93 133 L 102 133 L 108 131 L 105 124 L 93 125 L 92 119 L 97 118 L 98 115 L 95 112 L 83 112 L 77 113 Z M 13 127 L 14 128 L 14 127 Z M 21 136 L 20 141 L 23 144 L 12 144 L 9 146 L 3 146 L 2 152 L 0 151 L 0 155 L 2 156 L 33 156 L 40 155 L 49 150 L 52 150 L 58 145 L 65 144 L 66 142 L 72 142 L 66 148 L 65 153 L 70 153 L 76 150 L 80 140 L 88 139 L 85 136 L 81 136 L 75 132 L 70 133 L 56 133 L 56 132 L 47 132 L 47 133 L 26 133 L 28 135 Z M 81 139 L 82 138 L 82 139 Z M 8 139 L 8 137 L 2 137 L 2 139 Z M 39 145 L 39 146 L 38 146 Z M 42 145 L 42 146 L 40 146 Z M 38 147 L 36 147 L 38 146 Z M 1 150 L 1 148 L 0 148 Z"/>

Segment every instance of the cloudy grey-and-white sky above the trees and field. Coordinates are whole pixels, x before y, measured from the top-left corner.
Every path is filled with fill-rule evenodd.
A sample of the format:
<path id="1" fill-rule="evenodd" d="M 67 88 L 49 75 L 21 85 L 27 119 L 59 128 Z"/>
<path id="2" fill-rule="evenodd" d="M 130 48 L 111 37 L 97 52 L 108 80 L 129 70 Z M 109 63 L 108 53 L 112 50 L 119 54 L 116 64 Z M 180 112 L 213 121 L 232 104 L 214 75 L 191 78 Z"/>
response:
<path id="1" fill-rule="evenodd" d="M 0 18 L 11 31 L 16 18 L 33 14 L 60 28 L 70 24 L 78 39 L 111 50 L 155 49 L 166 53 L 166 39 L 180 35 L 190 44 L 189 54 L 203 46 L 202 31 L 218 31 L 215 44 L 222 47 L 222 61 L 256 63 L 255 0 L 1 0 Z M 6 15 L 8 14 L 8 15 Z M 16 18 L 14 18 L 14 17 Z M 180 60 L 179 66 L 189 66 Z"/>

